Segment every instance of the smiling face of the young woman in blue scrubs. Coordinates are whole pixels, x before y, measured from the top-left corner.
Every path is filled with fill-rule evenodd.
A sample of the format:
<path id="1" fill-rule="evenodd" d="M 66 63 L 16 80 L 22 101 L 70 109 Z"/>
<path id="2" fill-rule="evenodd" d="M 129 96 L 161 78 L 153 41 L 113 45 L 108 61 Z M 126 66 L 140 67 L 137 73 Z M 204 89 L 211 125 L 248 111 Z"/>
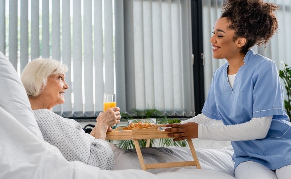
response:
<path id="1" fill-rule="evenodd" d="M 222 17 L 217 19 L 214 25 L 213 36 L 210 39 L 214 58 L 229 59 L 239 52 L 236 41 L 233 40 L 234 30 L 228 28 L 229 23 L 226 18 Z"/>

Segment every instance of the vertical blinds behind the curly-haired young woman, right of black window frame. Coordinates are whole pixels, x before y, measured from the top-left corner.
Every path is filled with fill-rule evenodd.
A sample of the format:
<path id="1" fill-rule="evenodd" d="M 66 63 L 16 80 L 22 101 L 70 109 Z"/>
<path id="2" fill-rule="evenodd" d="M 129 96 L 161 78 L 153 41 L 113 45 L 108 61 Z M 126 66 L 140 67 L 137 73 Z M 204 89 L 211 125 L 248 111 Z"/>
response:
<path id="1" fill-rule="evenodd" d="M 277 4 L 280 9 L 275 11 L 278 20 L 278 31 L 269 40 L 266 45 L 253 46 L 251 49 L 267 58 L 273 60 L 278 70 L 283 69 L 281 61 L 291 65 L 291 44 L 288 43 L 288 39 L 291 38 L 291 34 L 287 29 L 291 28 L 291 1 L 289 0 L 264 0 L 265 2 L 271 2 Z M 214 59 L 212 57 L 212 46 L 209 42 L 213 27 L 216 20 L 221 16 L 221 6 L 223 0 L 203 0 L 202 1 L 202 18 L 203 18 L 203 49 L 205 54 L 204 65 L 204 82 L 205 82 L 205 99 L 208 94 L 209 86 L 211 83 L 212 75 L 214 71 L 223 65 L 225 59 Z M 281 81 L 283 85 L 283 81 Z M 284 88 L 285 90 L 285 88 Z M 286 97 L 286 92 L 284 93 Z"/>

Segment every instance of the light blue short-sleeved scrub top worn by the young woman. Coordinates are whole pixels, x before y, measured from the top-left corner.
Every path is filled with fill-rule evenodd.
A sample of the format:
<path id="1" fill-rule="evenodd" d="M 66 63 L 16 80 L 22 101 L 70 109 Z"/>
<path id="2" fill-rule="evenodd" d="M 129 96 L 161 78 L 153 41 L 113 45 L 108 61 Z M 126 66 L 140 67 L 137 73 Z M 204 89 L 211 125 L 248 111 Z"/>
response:
<path id="1" fill-rule="evenodd" d="M 228 62 L 213 74 L 202 113 L 225 125 L 273 115 L 264 139 L 232 141 L 234 169 L 252 160 L 274 170 L 291 164 L 291 124 L 283 110 L 283 88 L 276 64 L 249 50 L 235 76 L 233 88 L 227 78 Z"/>

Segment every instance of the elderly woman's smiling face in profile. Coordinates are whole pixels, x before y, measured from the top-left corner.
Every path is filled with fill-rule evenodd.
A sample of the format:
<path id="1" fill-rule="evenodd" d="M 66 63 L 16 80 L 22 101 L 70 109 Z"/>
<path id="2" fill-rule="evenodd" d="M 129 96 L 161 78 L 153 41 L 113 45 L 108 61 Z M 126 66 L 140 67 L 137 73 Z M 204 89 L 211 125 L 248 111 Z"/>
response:
<path id="1" fill-rule="evenodd" d="M 51 75 L 48 77 L 47 85 L 41 95 L 46 98 L 47 105 L 53 107 L 65 103 L 64 93 L 66 89 L 68 89 L 68 85 L 64 73 Z"/>

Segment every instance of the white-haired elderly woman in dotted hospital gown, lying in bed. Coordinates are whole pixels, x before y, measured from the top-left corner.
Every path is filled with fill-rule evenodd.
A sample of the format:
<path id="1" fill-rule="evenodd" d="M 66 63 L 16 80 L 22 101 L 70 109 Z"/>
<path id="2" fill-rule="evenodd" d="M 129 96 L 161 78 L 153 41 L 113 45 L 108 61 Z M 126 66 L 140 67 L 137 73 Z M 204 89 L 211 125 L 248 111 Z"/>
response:
<path id="1" fill-rule="evenodd" d="M 52 59 L 35 59 L 23 69 L 21 80 L 44 140 L 56 146 L 68 161 L 78 160 L 111 170 L 114 155 L 105 141 L 106 131 L 120 122 L 118 107 L 100 113 L 95 128 L 89 134 L 73 119 L 62 118 L 51 111 L 65 103 L 64 94 L 69 88 L 65 81 L 68 67 Z M 92 137 L 93 136 L 93 137 Z"/>

